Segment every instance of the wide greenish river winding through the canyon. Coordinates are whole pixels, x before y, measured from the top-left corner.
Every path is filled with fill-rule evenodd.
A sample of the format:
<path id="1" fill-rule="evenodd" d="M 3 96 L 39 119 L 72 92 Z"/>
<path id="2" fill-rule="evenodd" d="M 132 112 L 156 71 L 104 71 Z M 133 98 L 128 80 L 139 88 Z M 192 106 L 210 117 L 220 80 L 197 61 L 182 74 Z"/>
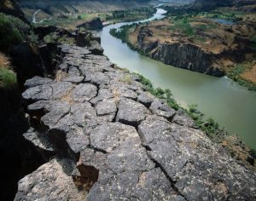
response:
<path id="1" fill-rule="evenodd" d="M 148 20 L 163 18 L 166 11 L 157 9 Z M 142 20 L 142 21 L 148 21 Z M 214 118 L 232 134 L 241 137 L 248 146 L 256 148 L 256 93 L 241 87 L 229 78 L 215 78 L 198 72 L 165 65 L 130 49 L 126 43 L 109 34 L 111 28 L 131 24 L 105 26 L 98 32 L 102 48 L 109 60 L 131 72 L 138 72 L 151 80 L 154 87 L 171 89 L 182 106 L 197 104 L 207 118 Z"/>

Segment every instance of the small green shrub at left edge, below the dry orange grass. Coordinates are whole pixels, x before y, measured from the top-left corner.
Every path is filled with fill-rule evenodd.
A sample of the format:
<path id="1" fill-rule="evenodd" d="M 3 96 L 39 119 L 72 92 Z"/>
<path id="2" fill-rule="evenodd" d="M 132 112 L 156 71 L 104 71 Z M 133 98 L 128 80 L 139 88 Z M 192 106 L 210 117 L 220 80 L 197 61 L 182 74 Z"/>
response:
<path id="1" fill-rule="evenodd" d="M 0 68 L 0 84 L 4 88 L 11 88 L 17 83 L 17 77 L 15 72 L 7 69 Z"/>

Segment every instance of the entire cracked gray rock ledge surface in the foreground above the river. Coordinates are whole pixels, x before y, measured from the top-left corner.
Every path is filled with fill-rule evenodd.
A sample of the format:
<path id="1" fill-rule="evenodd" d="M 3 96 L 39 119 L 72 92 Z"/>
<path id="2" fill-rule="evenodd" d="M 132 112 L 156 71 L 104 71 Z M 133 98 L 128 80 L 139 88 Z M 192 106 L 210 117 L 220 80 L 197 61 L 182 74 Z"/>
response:
<path id="1" fill-rule="evenodd" d="M 55 158 L 20 180 L 15 200 L 256 199 L 255 172 L 136 76 L 99 51 L 59 52 L 65 78 L 32 78 L 22 94 L 26 140 Z"/>

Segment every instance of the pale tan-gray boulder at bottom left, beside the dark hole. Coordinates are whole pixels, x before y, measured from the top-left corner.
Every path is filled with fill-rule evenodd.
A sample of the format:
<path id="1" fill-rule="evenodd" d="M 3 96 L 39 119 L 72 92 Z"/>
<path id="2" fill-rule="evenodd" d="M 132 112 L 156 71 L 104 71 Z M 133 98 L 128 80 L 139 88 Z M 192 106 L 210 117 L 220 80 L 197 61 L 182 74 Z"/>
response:
<path id="1" fill-rule="evenodd" d="M 86 193 L 79 191 L 68 175 L 73 165 L 67 158 L 43 164 L 19 181 L 15 200 L 85 200 Z"/>

